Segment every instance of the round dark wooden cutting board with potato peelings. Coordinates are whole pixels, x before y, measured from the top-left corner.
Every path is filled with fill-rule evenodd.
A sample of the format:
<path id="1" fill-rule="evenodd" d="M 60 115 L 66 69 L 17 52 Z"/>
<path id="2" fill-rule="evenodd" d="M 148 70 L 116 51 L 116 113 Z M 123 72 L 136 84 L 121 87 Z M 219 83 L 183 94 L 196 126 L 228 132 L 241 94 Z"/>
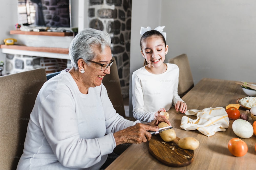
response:
<path id="1" fill-rule="evenodd" d="M 160 135 L 152 136 L 149 141 L 149 152 L 160 162 L 171 167 L 183 167 L 194 160 L 194 151 L 178 147 L 180 138 L 164 142 Z M 175 148 L 172 150 L 172 148 Z"/>

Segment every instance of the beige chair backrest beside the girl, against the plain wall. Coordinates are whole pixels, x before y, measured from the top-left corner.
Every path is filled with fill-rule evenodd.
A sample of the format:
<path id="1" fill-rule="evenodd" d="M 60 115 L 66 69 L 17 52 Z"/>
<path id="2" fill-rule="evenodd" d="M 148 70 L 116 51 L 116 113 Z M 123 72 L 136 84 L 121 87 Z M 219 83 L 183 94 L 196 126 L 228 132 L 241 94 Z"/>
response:
<path id="1" fill-rule="evenodd" d="M 179 67 L 179 85 L 178 94 L 183 97 L 191 88 L 194 87 L 194 81 L 186 54 L 169 59 L 169 63 L 176 64 Z"/>

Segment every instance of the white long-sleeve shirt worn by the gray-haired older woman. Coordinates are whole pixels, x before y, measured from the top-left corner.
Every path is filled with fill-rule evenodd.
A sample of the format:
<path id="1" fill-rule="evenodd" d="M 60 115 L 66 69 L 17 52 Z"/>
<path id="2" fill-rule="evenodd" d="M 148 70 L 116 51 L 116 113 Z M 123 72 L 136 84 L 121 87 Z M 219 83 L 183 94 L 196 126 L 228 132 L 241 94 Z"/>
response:
<path id="1" fill-rule="evenodd" d="M 82 94 L 63 70 L 37 95 L 17 169 L 99 169 L 113 133 L 136 123 L 116 113 L 103 84 Z"/>

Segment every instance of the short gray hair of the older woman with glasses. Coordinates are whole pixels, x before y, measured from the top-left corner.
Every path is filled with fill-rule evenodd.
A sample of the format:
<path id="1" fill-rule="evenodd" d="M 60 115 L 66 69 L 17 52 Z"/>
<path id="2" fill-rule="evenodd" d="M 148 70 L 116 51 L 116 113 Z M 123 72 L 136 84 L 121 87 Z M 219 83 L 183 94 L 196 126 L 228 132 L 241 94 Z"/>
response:
<path id="1" fill-rule="evenodd" d="M 82 30 L 74 37 L 69 46 L 71 66 L 77 70 L 77 61 L 80 58 L 88 63 L 87 60 L 92 60 L 96 56 L 95 47 L 102 52 L 106 46 L 111 46 L 111 40 L 108 33 L 93 28 Z"/>

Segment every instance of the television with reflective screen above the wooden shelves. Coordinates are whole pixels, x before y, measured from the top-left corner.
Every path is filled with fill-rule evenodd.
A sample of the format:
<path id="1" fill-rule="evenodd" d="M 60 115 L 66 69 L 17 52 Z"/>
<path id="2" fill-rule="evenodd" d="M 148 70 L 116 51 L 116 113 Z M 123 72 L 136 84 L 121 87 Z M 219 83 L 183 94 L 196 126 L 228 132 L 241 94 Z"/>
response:
<path id="1" fill-rule="evenodd" d="M 18 0 L 18 23 L 71 28 L 70 0 Z"/>

